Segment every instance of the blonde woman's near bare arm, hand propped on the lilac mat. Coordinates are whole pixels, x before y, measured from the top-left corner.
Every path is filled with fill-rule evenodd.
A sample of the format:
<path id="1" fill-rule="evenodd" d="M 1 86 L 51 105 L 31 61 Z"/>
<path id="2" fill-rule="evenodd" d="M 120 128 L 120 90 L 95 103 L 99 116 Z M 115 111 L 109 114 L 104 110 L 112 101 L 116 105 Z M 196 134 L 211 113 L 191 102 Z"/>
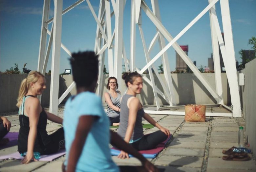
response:
<path id="1" fill-rule="evenodd" d="M 39 120 L 39 114 L 40 114 L 40 102 L 38 99 L 33 99 L 32 101 L 29 101 L 29 111 L 28 117 L 29 117 L 29 137 L 28 137 L 28 150 L 27 155 L 24 157 L 24 159 L 21 161 L 22 164 L 28 164 L 31 160 L 37 161 L 34 158 L 34 144 L 35 144 L 35 138 L 37 134 L 37 124 Z"/>

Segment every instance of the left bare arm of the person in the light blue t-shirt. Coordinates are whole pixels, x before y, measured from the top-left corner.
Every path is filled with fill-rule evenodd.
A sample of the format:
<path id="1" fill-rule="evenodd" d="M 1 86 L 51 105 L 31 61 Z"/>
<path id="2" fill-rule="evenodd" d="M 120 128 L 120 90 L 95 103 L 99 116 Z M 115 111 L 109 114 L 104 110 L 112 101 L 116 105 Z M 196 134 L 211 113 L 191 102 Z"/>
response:
<path id="1" fill-rule="evenodd" d="M 70 153 L 67 165 L 67 172 L 75 171 L 76 164 L 81 155 L 84 143 L 86 141 L 88 133 L 92 128 L 94 120 L 95 117 L 91 115 L 84 115 L 79 118 L 79 122 L 75 132 L 75 139 L 72 142 L 71 149 L 69 151 Z"/>

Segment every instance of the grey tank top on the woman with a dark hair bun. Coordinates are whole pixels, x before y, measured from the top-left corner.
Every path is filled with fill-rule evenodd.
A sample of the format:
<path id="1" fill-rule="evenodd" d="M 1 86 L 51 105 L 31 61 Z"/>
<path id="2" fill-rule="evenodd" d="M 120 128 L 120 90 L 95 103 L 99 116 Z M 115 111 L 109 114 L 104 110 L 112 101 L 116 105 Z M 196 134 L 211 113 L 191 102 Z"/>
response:
<path id="1" fill-rule="evenodd" d="M 121 102 L 121 113 L 120 113 L 120 125 L 118 128 L 117 133 L 124 139 L 126 130 L 128 127 L 128 118 L 129 118 L 129 108 L 127 107 L 127 101 L 130 97 L 133 97 L 132 95 L 125 94 L 122 97 Z M 132 106 L 132 104 L 130 104 Z M 143 108 L 139 109 L 137 112 L 137 117 L 135 121 L 135 126 L 133 130 L 132 137 L 130 139 L 130 142 L 136 141 L 143 137 L 143 128 L 142 128 L 142 117 L 144 116 L 144 110 Z"/>

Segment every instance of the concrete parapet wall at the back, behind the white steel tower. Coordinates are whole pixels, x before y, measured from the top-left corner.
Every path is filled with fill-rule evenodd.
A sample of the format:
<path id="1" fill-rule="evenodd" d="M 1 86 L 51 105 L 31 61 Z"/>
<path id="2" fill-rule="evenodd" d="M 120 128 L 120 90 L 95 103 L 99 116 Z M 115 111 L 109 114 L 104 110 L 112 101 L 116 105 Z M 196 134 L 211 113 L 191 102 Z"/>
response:
<path id="1" fill-rule="evenodd" d="M 145 74 L 148 78 L 149 75 Z M 18 91 L 22 79 L 24 79 L 26 74 L 0 74 L 0 113 L 16 111 L 18 108 L 15 106 L 16 99 L 18 97 Z M 203 84 L 195 77 L 193 73 L 178 73 L 171 74 L 172 82 L 174 85 L 174 94 L 177 105 L 184 104 L 215 104 L 217 103 L 215 99 L 210 95 L 206 90 Z M 209 82 L 209 84 L 215 88 L 215 76 L 214 73 L 203 73 L 203 76 Z M 50 100 L 50 81 L 51 76 L 46 75 L 46 90 L 42 94 L 42 106 L 49 106 Z M 108 75 L 104 75 L 104 89 L 102 93 L 107 91 L 107 79 Z M 160 74 L 160 77 L 165 82 L 164 75 Z M 60 75 L 59 80 L 59 97 L 67 89 L 68 86 L 73 82 L 72 75 Z M 153 89 L 149 84 L 143 81 L 143 90 L 138 98 L 143 105 L 155 105 L 156 100 L 154 99 Z M 159 80 L 155 77 L 155 83 L 158 88 L 163 92 L 162 86 L 160 85 Z M 222 83 L 223 83 L 223 95 L 224 95 L 224 104 L 231 104 L 229 87 L 227 86 L 226 73 L 222 73 Z M 126 86 L 124 81 L 118 81 L 121 94 L 124 94 L 126 91 Z M 165 83 L 166 84 L 166 83 Z M 71 95 L 75 95 L 75 88 L 70 92 L 70 94 L 64 99 L 63 102 Z M 103 94 L 102 94 L 103 95 Z M 158 99 L 161 105 L 168 105 L 165 99 L 158 95 Z M 63 103 L 62 102 L 62 103 Z M 105 104 L 104 97 L 102 98 L 102 103 Z"/>

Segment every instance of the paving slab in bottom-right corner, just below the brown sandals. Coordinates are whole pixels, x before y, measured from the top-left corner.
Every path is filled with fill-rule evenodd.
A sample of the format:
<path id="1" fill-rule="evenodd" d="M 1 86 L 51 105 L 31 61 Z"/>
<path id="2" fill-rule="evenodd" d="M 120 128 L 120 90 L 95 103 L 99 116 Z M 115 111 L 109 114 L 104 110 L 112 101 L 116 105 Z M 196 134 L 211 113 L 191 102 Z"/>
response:
<path id="1" fill-rule="evenodd" d="M 224 161 L 222 158 L 209 157 L 207 169 L 216 169 L 216 167 L 223 169 L 243 169 L 256 171 L 256 164 L 252 159 L 250 161 Z"/>

